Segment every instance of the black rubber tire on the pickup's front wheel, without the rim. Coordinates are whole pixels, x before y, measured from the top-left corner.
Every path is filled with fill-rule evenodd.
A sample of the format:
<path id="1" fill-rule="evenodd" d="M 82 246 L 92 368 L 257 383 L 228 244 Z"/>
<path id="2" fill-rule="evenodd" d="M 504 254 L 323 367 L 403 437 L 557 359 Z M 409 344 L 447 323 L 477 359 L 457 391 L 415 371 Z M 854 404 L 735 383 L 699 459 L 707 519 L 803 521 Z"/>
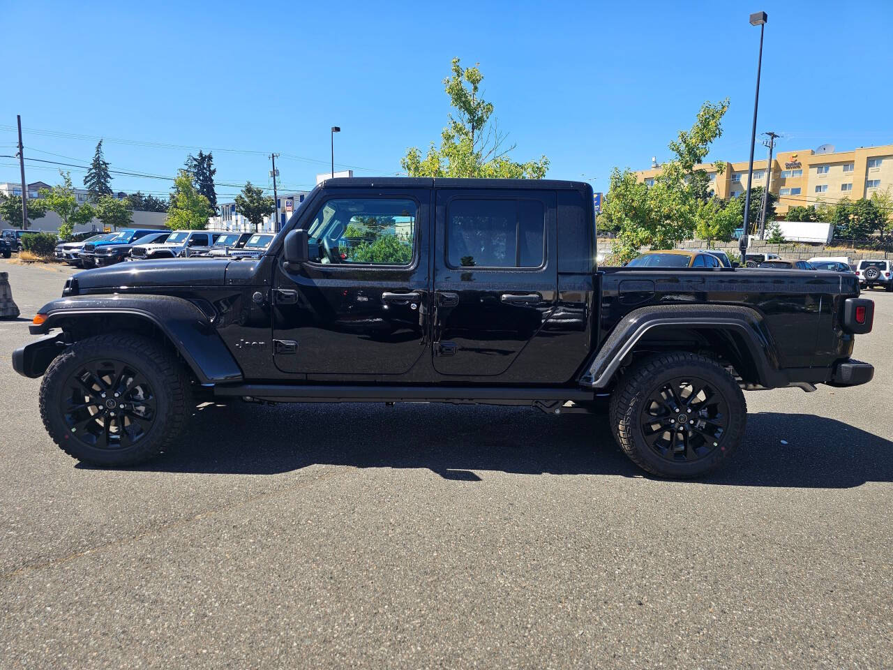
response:
<path id="1" fill-rule="evenodd" d="M 67 381 L 79 367 L 98 360 L 120 361 L 145 376 L 155 398 L 152 426 L 129 448 L 102 449 L 74 437 L 65 422 L 63 397 Z M 151 339 L 113 332 L 80 339 L 56 356 L 40 385 L 40 416 L 46 431 L 66 454 L 101 466 L 136 465 L 170 450 L 192 412 L 188 373 L 171 353 Z"/>

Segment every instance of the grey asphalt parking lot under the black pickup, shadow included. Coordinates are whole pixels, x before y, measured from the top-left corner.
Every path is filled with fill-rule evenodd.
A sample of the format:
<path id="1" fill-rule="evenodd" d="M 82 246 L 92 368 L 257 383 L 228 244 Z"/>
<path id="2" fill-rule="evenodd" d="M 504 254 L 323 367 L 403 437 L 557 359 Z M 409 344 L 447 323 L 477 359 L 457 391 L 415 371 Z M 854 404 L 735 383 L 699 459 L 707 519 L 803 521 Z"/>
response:
<path id="1" fill-rule="evenodd" d="M 893 294 L 870 385 L 748 393 L 700 482 L 598 417 L 437 405 L 208 406 L 99 470 L 9 364 L 70 272 L 3 271 L 0 666 L 893 666 Z"/>

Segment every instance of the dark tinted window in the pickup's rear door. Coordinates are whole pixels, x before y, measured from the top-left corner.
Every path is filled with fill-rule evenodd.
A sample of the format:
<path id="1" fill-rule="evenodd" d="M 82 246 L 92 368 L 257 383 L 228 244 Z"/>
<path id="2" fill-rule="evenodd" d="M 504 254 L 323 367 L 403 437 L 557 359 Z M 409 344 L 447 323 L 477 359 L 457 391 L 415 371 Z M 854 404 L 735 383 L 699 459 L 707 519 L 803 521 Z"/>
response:
<path id="1" fill-rule="evenodd" d="M 455 199 L 447 214 L 451 267 L 540 267 L 546 210 L 538 200 Z"/>

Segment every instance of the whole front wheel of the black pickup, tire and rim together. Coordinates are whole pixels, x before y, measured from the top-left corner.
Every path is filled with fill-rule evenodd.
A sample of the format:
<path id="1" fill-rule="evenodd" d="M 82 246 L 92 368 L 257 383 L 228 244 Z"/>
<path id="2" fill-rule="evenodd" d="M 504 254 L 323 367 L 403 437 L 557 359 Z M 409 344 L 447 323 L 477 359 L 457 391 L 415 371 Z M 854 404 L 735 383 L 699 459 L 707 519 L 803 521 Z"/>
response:
<path id="1" fill-rule="evenodd" d="M 69 456 L 95 465 L 134 465 L 170 448 L 191 406 L 174 356 L 127 332 L 75 342 L 46 369 L 40 415 Z"/>

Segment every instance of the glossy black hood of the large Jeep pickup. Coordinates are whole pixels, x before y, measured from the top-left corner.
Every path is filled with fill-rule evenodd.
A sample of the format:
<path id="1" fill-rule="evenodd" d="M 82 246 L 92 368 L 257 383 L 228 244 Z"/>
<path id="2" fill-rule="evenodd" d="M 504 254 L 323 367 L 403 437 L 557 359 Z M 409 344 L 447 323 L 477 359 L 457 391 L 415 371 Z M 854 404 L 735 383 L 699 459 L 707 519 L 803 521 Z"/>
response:
<path id="1" fill-rule="evenodd" d="M 222 286 L 227 265 L 232 262 L 229 258 L 137 261 L 78 272 L 74 279 L 81 291 L 140 286 Z"/>

